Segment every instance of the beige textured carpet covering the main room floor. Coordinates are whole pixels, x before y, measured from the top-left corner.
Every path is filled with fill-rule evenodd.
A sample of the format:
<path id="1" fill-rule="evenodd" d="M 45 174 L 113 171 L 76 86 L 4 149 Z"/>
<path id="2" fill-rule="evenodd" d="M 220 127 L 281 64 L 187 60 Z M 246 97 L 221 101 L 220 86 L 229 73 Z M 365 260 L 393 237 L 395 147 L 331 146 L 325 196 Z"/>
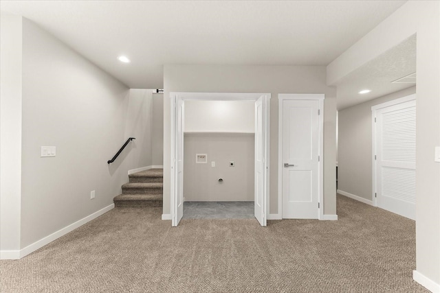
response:
<path id="1" fill-rule="evenodd" d="M 160 220 L 118 208 L 17 261 L 1 292 L 428 292 L 415 222 L 338 196 L 338 221 Z"/>

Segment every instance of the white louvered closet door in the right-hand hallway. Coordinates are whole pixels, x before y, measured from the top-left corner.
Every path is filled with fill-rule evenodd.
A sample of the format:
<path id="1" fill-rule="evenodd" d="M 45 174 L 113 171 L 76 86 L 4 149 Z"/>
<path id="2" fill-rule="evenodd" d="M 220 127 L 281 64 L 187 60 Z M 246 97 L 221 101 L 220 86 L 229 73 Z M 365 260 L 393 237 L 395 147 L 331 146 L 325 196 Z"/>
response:
<path id="1" fill-rule="evenodd" d="M 415 220 L 415 100 L 376 111 L 377 207 Z"/>

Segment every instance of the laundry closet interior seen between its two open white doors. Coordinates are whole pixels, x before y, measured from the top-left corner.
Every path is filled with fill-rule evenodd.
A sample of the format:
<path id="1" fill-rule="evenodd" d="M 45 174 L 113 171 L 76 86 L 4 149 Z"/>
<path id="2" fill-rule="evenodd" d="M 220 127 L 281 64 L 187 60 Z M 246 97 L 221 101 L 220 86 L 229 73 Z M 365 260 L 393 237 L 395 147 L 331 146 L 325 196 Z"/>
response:
<path id="1" fill-rule="evenodd" d="M 184 106 L 183 219 L 254 218 L 255 102 Z"/>

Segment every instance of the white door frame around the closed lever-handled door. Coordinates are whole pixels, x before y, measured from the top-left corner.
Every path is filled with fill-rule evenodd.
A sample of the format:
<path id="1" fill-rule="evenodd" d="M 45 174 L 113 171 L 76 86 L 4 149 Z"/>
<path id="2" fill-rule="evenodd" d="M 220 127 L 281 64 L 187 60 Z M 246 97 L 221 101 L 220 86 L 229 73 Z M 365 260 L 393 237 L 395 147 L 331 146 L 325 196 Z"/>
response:
<path id="1" fill-rule="evenodd" d="M 320 113 L 318 115 L 318 220 L 324 217 L 324 94 L 314 93 L 280 93 L 278 94 L 278 219 L 283 219 L 283 101 L 288 100 L 318 100 Z"/>

